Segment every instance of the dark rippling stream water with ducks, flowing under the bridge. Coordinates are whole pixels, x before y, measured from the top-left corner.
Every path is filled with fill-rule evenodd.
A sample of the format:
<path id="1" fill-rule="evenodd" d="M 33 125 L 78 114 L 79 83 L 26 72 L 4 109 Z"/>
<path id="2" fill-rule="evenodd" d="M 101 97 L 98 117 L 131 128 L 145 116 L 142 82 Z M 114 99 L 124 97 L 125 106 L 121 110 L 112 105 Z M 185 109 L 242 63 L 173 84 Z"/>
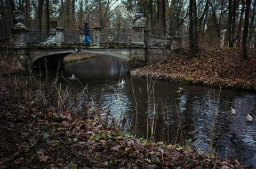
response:
<path id="1" fill-rule="evenodd" d="M 67 79 L 72 76 L 72 73 L 75 74 L 81 84 L 78 80 L 69 80 L 70 84 L 76 90 L 83 89 L 87 85 L 88 95 L 95 104 L 100 103 L 106 110 L 110 108 L 113 115 L 117 111 L 118 117 L 124 118 L 125 114 L 128 122 L 135 121 L 136 104 L 132 92 L 131 77 L 125 61 L 116 57 L 101 55 L 86 61 L 66 64 L 60 72 Z M 52 71 L 53 73 L 54 71 Z M 125 83 L 119 86 L 120 73 Z M 256 119 L 254 122 L 244 121 L 248 112 L 256 115 L 255 92 L 221 89 L 218 103 L 219 89 L 216 88 L 182 85 L 159 80 L 154 83 L 154 80 L 147 81 L 145 78 L 138 77 L 133 77 L 132 81 L 138 103 L 139 122 L 134 134 L 137 136 L 147 135 L 149 109 L 151 124 L 153 117 L 155 117 L 154 125 L 157 127 L 154 129 L 154 138 L 157 141 L 175 143 L 180 117 L 180 124 L 185 131 L 183 138 L 191 139 L 194 147 L 209 151 L 212 117 L 213 113 L 218 110 L 212 146 L 213 148 L 216 147 L 215 152 L 218 152 L 221 157 L 237 158 L 244 165 L 256 167 Z M 61 86 L 70 85 L 61 77 L 59 82 Z M 154 93 L 151 92 L 148 102 L 147 85 L 149 84 L 149 92 L 152 91 L 154 84 Z M 179 87 L 184 88 L 182 94 L 177 92 Z M 118 88 L 120 88 L 120 101 L 118 101 Z M 230 115 L 231 106 L 237 108 L 237 115 Z M 148 135 L 150 136 L 150 132 Z M 180 138 L 180 135 L 178 137 Z"/>

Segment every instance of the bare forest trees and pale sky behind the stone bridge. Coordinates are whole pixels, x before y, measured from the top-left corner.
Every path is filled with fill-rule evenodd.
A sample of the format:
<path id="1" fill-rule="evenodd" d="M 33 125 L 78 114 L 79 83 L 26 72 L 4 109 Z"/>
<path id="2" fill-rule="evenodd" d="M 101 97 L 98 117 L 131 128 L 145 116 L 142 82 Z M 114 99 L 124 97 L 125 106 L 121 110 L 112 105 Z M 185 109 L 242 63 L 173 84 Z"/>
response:
<path id="1" fill-rule="evenodd" d="M 134 8 L 143 6 L 147 29 L 170 37 L 179 33 L 184 47 L 255 47 L 255 5 L 252 0 L 1 0 L 1 32 L 12 33 L 12 11 L 24 13 L 30 30 L 49 30 L 51 20 L 64 29 L 127 29 L 133 24 Z M 191 8 L 189 8 L 191 6 Z M 243 31 L 244 30 L 244 31 Z M 246 36 L 247 35 L 247 36 Z"/>

